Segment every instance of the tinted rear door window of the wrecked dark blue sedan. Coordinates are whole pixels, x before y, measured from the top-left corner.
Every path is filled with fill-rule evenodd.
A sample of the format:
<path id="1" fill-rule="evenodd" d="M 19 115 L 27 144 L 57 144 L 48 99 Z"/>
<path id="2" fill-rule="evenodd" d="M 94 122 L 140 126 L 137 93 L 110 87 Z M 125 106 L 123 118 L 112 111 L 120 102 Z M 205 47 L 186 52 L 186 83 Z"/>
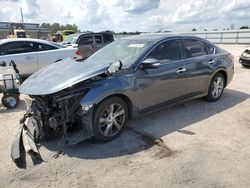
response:
<path id="1" fill-rule="evenodd" d="M 199 57 L 207 55 L 207 50 L 204 42 L 194 39 L 185 39 L 183 47 L 186 58 Z"/>

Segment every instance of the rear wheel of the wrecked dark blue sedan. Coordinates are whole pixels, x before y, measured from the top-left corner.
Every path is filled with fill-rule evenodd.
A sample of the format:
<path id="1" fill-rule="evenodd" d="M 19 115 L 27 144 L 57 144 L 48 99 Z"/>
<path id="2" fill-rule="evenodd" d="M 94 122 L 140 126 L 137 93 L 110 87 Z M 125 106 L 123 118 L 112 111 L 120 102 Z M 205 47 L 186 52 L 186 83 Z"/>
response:
<path id="1" fill-rule="evenodd" d="M 217 80 L 221 80 L 222 81 L 222 83 L 219 84 L 220 85 L 219 87 L 215 86 L 215 82 Z M 221 73 L 219 73 L 219 72 L 216 73 L 214 75 L 213 79 L 210 82 L 209 89 L 208 89 L 208 95 L 205 97 L 205 99 L 207 101 L 209 101 L 209 102 L 215 102 L 215 101 L 219 100 L 220 97 L 221 97 L 221 95 L 222 95 L 222 93 L 223 93 L 223 91 L 224 91 L 225 84 L 226 83 L 225 83 L 225 77 L 224 77 L 224 75 L 221 74 Z M 216 90 L 215 87 L 217 87 L 217 89 L 218 89 L 218 93 L 216 95 L 215 95 L 215 90 Z"/>

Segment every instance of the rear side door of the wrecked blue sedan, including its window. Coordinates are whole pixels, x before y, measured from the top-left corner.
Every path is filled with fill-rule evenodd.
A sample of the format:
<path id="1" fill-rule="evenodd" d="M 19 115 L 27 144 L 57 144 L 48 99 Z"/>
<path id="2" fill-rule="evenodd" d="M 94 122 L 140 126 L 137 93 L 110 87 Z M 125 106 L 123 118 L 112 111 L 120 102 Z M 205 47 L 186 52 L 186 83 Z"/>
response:
<path id="1" fill-rule="evenodd" d="M 190 97 L 206 92 L 213 68 L 212 56 L 206 43 L 198 39 L 184 39 L 183 51 L 186 60 L 187 92 Z"/>

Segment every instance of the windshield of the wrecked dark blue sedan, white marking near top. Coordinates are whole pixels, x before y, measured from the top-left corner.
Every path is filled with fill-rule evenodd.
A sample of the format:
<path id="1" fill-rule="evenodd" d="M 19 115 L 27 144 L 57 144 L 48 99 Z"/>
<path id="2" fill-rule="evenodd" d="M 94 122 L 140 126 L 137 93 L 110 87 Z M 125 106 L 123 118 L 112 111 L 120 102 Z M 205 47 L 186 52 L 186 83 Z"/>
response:
<path id="1" fill-rule="evenodd" d="M 85 62 L 111 64 L 122 62 L 122 68 L 130 67 L 149 47 L 150 41 L 121 39 L 101 48 L 88 57 Z"/>

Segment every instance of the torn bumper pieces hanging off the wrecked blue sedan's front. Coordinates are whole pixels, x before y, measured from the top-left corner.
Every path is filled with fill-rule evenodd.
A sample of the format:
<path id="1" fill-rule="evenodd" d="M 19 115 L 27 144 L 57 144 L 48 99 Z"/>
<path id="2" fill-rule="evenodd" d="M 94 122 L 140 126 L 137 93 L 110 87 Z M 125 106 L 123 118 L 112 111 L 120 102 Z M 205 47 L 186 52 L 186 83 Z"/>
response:
<path id="1" fill-rule="evenodd" d="M 63 132 L 62 139 L 58 143 L 57 154 L 54 155 L 55 158 L 61 153 L 61 148 L 63 145 L 75 145 L 93 136 L 92 128 L 92 113 L 93 109 L 90 109 L 81 118 L 82 128 L 74 132 Z M 27 168 L 26 163 L 26 153 L 31 156 L 34 165 L 43 162 L 40 152 L 37 147 L 37 142 L 41 136 L 47 136 L 42 130 L 37 116 L 32 113 L 27 113 L 24 118 L 20 121 L 21 126 L 15 136 L 15 139 L 11 147 L 11 158 L 13 162 L 19 168 Z"/>

